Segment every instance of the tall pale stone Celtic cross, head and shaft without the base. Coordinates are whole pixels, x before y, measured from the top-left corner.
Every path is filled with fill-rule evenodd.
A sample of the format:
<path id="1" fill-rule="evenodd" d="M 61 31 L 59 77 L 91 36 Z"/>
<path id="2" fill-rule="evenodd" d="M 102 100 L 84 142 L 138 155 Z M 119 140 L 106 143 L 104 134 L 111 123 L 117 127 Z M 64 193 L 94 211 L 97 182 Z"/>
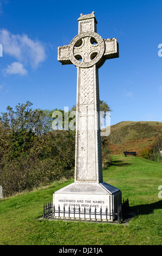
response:
<path id="1" fill-rule="evenodd" d="M 77 67 L 75 182 L 101 183 L 98 69 L 119 57 L 117 39 L 97 34 L 95 12 L 80 14 L 79 31 L 69 45 L 58 47 L 61 64 Z"/>

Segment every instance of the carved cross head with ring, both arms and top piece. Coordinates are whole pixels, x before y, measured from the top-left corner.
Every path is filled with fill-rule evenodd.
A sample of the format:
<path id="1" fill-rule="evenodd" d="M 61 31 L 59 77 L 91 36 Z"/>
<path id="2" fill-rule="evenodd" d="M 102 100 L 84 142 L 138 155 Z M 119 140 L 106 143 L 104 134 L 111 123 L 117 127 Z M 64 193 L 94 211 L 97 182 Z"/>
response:
<path id="1" fill-rule="evenodd" d="M 74 64 L 80 68 L 97 65 L 100 68 L 106 59 L 119 57 L 117 39 L 102 39 L 97 34 L 95 12 L 80 14 L 79 32 L 69 45 L 58 47 L 58 60 L 61 64 Z"/>

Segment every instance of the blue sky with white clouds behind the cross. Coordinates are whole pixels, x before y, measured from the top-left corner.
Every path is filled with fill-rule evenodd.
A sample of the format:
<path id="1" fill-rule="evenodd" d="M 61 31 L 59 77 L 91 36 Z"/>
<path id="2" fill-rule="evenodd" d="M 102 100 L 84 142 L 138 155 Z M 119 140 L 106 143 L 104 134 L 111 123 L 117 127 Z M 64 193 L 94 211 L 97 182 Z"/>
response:
<path id="1" fill-rule="evenodd" d="M 0 112 L 26 101 L 41 109 L 76 104 L 77 68 L 57 61 L 58 46 L 78 34 L 80 13 L 95 11 L 97 33 L 119 42 L 120 57 L 99 69 L 111 125 L 162 121 L 161 10 L 161 0 L 0 0 Z"/>

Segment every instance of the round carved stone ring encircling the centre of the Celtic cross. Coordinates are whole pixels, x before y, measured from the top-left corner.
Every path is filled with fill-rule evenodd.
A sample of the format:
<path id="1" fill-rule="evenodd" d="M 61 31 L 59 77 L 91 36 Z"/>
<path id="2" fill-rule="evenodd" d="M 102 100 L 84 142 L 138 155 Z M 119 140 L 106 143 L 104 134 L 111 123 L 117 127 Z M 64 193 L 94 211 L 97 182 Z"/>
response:
<path id="1" fill-rule="evenodd" d="M 76 35 L 68 47 L 71 62 L 80 68 L 98 64 L 104 54 L 105 44 L 95 32 L 82 32 Z"/>

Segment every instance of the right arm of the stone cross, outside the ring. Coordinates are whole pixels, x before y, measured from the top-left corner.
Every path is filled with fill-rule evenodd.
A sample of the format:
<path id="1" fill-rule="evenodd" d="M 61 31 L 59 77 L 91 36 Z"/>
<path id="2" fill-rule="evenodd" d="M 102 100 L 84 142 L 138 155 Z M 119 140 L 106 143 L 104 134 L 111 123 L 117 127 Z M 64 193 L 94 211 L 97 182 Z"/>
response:
<path id="1" fill-rule="evenodd" d="M 116 38 L 104 39 L 105 52 L 104 59 L 113 59 L 119 57 L 119 45 Z"/>

